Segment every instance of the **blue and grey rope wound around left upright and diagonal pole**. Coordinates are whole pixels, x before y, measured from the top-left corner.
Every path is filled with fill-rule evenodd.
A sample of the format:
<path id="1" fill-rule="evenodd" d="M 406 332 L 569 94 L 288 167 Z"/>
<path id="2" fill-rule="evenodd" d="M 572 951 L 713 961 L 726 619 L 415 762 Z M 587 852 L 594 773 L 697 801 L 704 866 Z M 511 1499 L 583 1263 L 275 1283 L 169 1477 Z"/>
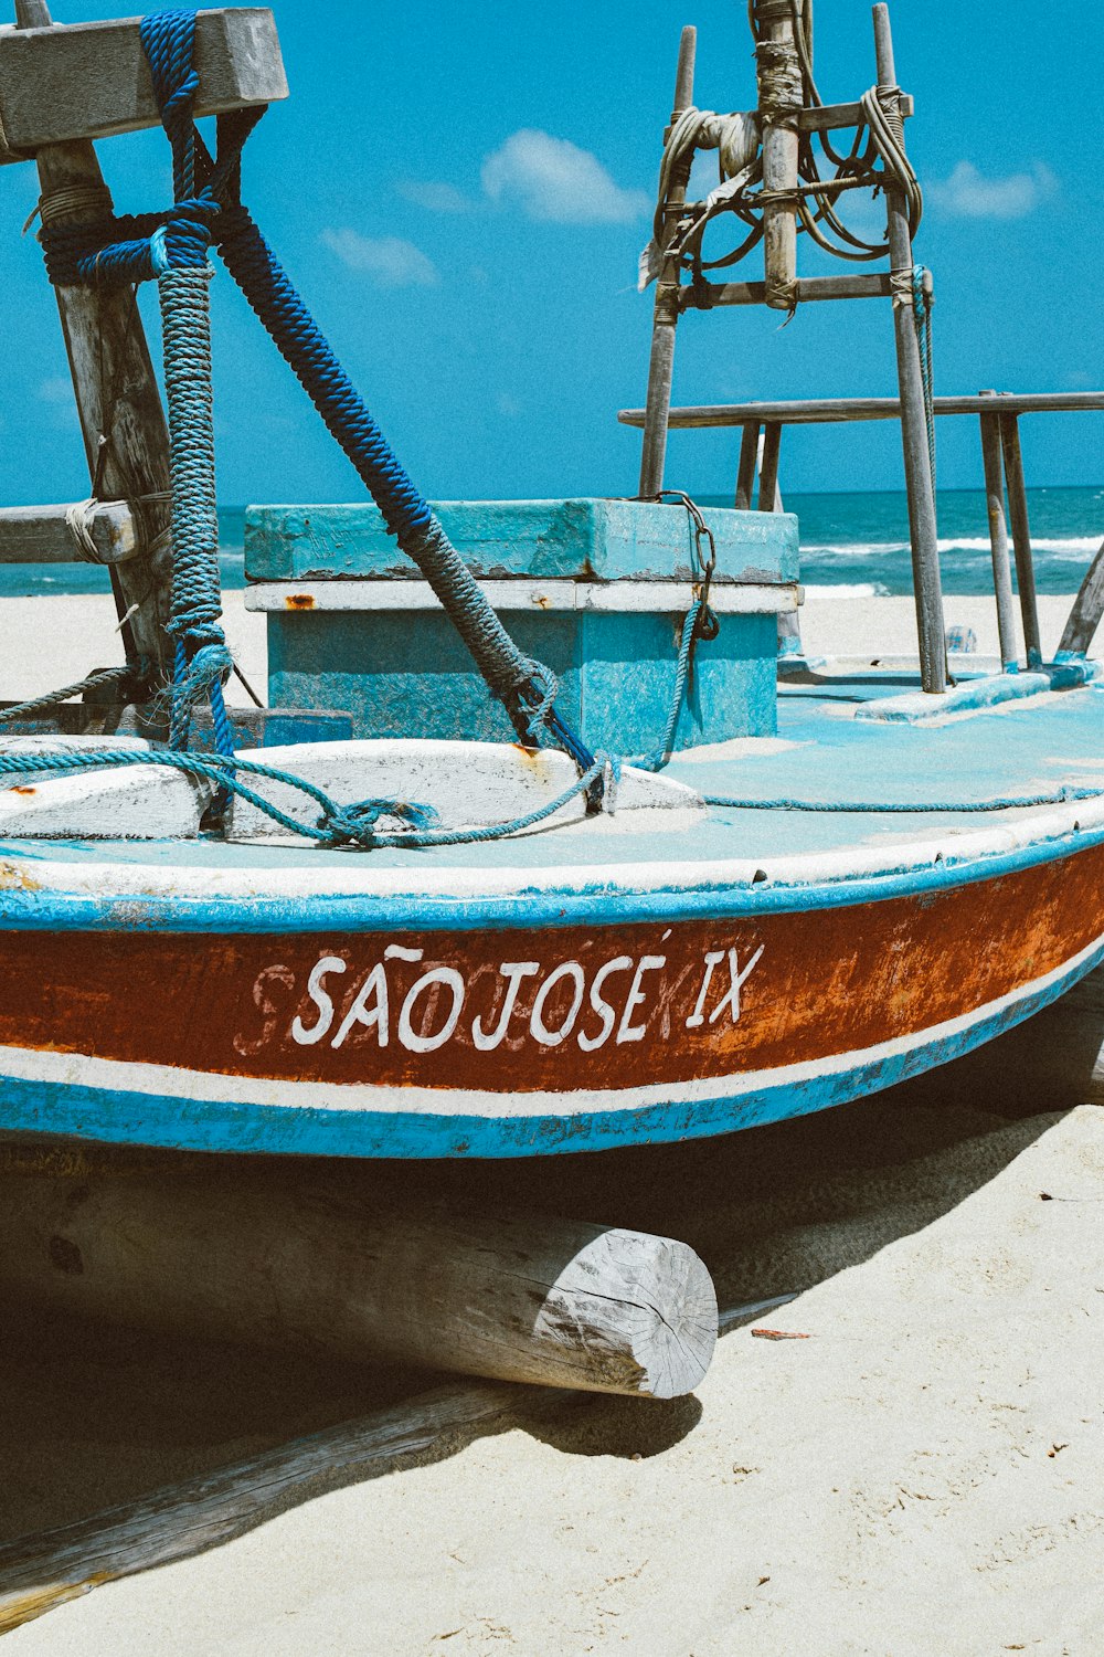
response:
<path id="1" fill-rule="evenodd" d="M 556 713 L 554 674 L 516 648 L 242 205 L 242 147 L 263 109 L 220 116 L 214 157 L 199 138 L 194 124 L 199 86 L 192 65 L 194 31 L 195 13 L 184 10 L 151 15 L 141 25 L 162 126 L 172 146 L 172 209 L 61 225 L 45 215 L 40 230 L 51 282 L 99 285 L 156 277 L 162 293 L 174 449 L 174 542 L 177 532 L 182 537 L 177 562 L 184 553 L 184 572 L 179 580 L 174 577 L 170 621 L 182 646 L 175 663 L 172 741 L 185 739 L 189 709 L 199 696 L 210 693 L 212 708 L 220 701 L 222 676 L 230 664 L 218 625 L 218 567 L 217 555 L 212 555 L 212 535 L 217 553 L 214 451 L 207 446 L 210 408 L 205 403 L 209 391 L 204 391 L 210 384 L 209 323 L 204 323 L 207 250 L 214 245 L 366 482 L 389 534 L 417 563 L 449 613 L 518 737 L 536 747 L 561 747 L 581 771 L 588 771 L 593 764 L 589 749 Z M 174 398 L 179 444 L 172 441 Z M 177 495 L 182 504 L 177 504 Z"/>

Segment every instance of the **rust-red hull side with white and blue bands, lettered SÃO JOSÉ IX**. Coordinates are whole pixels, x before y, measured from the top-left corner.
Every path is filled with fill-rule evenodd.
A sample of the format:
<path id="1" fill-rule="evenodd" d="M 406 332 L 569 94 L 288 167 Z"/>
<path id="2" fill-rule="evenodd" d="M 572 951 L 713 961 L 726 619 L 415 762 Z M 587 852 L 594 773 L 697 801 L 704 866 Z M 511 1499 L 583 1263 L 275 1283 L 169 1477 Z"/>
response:
<path id="1" fill-rule="evenodd" d="M 1104 958 L 1102 880 L 1104 845 L 1071 837 L 881 880 L 606 890 L 586 915 L 550 888 L 505 925 L 502 906 L 437 901 L 415 925 L 409 903 L 318 898 L 295 928 L 233 930 L 217 903 L 205 928 L 184 901 L 174 928 L 166 898 L 93 920 L 20 888 L 0 1127 L 351 1157 L 732 1132 L 1030 1017 Z"/>

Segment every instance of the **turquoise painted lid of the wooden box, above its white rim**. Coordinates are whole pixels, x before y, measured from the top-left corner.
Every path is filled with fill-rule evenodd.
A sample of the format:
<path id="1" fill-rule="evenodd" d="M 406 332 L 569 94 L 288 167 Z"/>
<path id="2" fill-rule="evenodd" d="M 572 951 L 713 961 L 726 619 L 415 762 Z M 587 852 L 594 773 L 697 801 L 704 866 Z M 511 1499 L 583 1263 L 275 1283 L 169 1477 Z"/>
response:
<path id="1" fill-rule="evenodd" d="M 445 534 L 473 575 L 550 580 L 690 580 L 694 537 L 679 504 L 641 500 L 439 500 Z M 710 507 L 717 582 L 796 582 L 798 520 L 790 512 Z M 250 582 L 353 575 L 415 578 L 372 505 L 250 507 Z"/>

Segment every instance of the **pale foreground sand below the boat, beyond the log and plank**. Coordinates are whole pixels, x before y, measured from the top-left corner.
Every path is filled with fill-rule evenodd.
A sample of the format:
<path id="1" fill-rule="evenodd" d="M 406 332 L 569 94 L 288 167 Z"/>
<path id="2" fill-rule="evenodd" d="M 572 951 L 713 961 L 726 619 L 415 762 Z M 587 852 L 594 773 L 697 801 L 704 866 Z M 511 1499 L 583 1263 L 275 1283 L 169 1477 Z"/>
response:
<path id="1" fill-rule="evenodd" d="M 718 1276 L 823 1278 L 760 1319 L 808 1341 L 722 1339 L 700 1412 L 573 1400 L 104 1586 L 12 1652 L 1101 1652 L 1104 1117 L 833 1115 L 839 1167 L 828 1118 L 766 1130 L 813 1155 L 775 1195 L 751 1155 L 720 1231 L 697 1162 L 713 1246 L 743 1229 Z"/>

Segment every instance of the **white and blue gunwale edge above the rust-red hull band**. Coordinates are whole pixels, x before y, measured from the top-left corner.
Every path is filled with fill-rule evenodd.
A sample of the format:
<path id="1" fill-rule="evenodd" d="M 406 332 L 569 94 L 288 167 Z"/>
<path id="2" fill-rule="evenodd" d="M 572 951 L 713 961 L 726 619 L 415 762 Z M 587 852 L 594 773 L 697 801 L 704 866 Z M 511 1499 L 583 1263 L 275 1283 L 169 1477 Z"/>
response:
<path id="1" fill-rule="evenodd" d="M 1104 797 L 1031 807 L 1000 828 L 953 835 L 943 828 L 892 848 L 684 863 L 682 880 L 672 880 L 670 862 L 655 860 L 548 870 L 417 863 L 372 870 L 349 853 L 358 862 L 348 873 L 333 865 L 210 870 L 51 862 L 38 850 L 46 842 L 0 842 L 0 926 L 329 933 L 720 918 L 950 890 L 1073 857 L 1102 840 Z M 23 850 L 31 845 L 33 853 Z"/>

